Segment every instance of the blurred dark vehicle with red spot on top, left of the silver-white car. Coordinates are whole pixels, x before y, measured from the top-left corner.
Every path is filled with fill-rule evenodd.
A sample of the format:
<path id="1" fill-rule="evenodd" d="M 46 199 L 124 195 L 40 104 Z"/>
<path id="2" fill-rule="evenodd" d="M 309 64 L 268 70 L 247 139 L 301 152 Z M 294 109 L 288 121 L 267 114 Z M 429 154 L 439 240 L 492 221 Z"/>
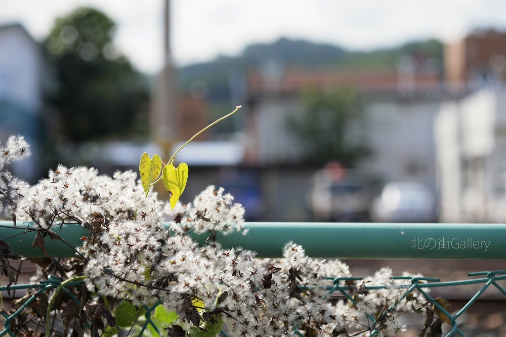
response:
<path id="1" fill-rule="evenodd" d="M 368 190 L 339 164 L 327 165 L 314 174 L 308 205 L 316 221 L 369 221 Z"/>

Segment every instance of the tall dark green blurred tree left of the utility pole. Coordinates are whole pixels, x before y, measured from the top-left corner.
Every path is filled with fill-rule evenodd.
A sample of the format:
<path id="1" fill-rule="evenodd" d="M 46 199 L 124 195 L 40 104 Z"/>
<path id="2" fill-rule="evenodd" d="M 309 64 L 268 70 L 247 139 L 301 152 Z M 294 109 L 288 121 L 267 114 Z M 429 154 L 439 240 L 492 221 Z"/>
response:
<path id="1" fill-rule="evenodd" d="M 147 131 L 148 86 L 114 48 L 115 23 L 92 8 L 58 18 L 45 45 L 55 63 L 60 135 L 78 142 Z M 147 119 L 147 118 L 144 118 Z"/>

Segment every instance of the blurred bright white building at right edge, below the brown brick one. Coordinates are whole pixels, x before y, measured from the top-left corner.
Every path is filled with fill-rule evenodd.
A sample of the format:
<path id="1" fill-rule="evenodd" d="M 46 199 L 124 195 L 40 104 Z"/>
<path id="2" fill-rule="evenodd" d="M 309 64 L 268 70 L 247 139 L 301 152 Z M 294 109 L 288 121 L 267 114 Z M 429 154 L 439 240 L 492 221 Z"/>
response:
<path id="1" fill-rule="evenodd" d="M 436 121 L 442 221 L 506 221 L 506 91 L 443 104 Z"/>

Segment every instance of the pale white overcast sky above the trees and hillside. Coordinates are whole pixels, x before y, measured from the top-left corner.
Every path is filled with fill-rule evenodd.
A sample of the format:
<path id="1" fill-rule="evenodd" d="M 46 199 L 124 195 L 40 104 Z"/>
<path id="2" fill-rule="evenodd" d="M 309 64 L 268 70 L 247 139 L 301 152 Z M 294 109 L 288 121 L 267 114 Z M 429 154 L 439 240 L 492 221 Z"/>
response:
<path id="1" fill-rule="evenodd" d="M 116 45 L 139 70 L 160 69 L 164 0 L 0 0 L 0 25 L 20 22 L 40 40 L 56 17 L 78 6 L 100 9 L 117 23 Z M 452 41 L 476 27 L 506 29 L 504 0 L 172 0 L 171 6 L 178 65 L 281 36 L 369 50 L 430 37 Z"/>

